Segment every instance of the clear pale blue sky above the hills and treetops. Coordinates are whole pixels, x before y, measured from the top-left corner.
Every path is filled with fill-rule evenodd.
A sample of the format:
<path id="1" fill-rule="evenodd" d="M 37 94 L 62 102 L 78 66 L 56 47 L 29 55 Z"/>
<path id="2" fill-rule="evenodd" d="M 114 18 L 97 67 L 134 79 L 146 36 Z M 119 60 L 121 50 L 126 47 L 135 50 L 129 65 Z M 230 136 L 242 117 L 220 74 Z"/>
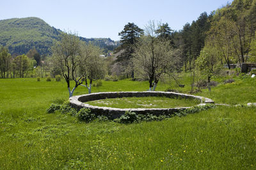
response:
<path id="1" fill-rule="evenodd" d="M 232 0 L 6 0 L 1 1 L 0 20 L 39 17 L 85 38 L 118 40 L 118 32 L 128 22 L 144 29 L 149 20 L 155 20 L 180 30 L 200 13 L 209 14 L 228 2 Z"/>

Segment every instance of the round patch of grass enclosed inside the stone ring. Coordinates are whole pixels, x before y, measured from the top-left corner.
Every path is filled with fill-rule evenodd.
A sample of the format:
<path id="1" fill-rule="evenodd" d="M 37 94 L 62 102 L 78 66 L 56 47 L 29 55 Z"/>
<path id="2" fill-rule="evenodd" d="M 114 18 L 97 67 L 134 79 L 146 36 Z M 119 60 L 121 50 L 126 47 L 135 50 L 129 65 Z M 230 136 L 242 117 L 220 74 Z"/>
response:
<path id="1" fill-rule="evenodd" d="M 195 106 L 199 103 L 200 101 L 192 99 L 168 97 L 122 97 L 86 102 L 92 106 L 109 108 L 180 108 Z"/>

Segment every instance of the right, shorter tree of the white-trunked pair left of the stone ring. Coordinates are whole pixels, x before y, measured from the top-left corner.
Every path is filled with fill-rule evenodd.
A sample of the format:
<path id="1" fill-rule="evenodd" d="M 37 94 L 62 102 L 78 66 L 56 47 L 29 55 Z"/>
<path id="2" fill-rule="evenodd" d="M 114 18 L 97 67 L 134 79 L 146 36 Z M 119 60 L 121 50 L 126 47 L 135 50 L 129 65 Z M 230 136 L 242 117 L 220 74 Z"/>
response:
<path id="1" fill-rule="evenodd" d="M 88 94 L 92 93 L 93 80 L 104 78 L 106 73 L 104 59 L 100 57 L 100 53 L 102 53 L 102 50 L 98 46 L 92 45 L 92 43 L 82 46 L 79 72 L 84 74 L 85 85 L 81 85 L 88 89 Z M 87 79 L 89 80 L 89 86 Z"/>

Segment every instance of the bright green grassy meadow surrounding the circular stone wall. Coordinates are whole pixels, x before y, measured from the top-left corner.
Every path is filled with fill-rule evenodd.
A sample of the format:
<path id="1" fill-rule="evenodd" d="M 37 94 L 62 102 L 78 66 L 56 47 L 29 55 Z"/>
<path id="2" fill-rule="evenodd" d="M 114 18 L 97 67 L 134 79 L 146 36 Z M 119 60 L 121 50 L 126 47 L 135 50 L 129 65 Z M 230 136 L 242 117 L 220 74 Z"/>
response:
<path id="1" fill-rule="evenodd" d="M 179 88 L 189 91 L 189 76 Z M 228 77 L 227 77 L 228 78 Z M 216 103 L 256 102 L 256 80 L 221 83 L 198 96 Z M 171 86 L 171 87 L 170 87 Z M 102 81 L 92 92 L 143 91 L 145 81 Z M 79 87 L 74 95 L 86 93 Z M 64 81 L 0 79 L 0 169 L 255 169 L 256 107 L 217 106 L 186 117 L 140 124 L 79 122 L 51 103 L 68 99 Z"/>

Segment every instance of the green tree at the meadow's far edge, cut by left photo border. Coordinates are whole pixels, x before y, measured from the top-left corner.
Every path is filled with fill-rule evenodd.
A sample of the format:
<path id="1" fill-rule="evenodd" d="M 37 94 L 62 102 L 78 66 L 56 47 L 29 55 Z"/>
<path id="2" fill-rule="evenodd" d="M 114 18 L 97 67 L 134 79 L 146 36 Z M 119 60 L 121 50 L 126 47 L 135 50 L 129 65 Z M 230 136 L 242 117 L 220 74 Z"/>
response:
<path id="1" fill-rule="evenodd" d="M 8 78 L 11 65 L 11 55 L 7 48 L 0 48 L 0 73 L 1 78 Z"/>

